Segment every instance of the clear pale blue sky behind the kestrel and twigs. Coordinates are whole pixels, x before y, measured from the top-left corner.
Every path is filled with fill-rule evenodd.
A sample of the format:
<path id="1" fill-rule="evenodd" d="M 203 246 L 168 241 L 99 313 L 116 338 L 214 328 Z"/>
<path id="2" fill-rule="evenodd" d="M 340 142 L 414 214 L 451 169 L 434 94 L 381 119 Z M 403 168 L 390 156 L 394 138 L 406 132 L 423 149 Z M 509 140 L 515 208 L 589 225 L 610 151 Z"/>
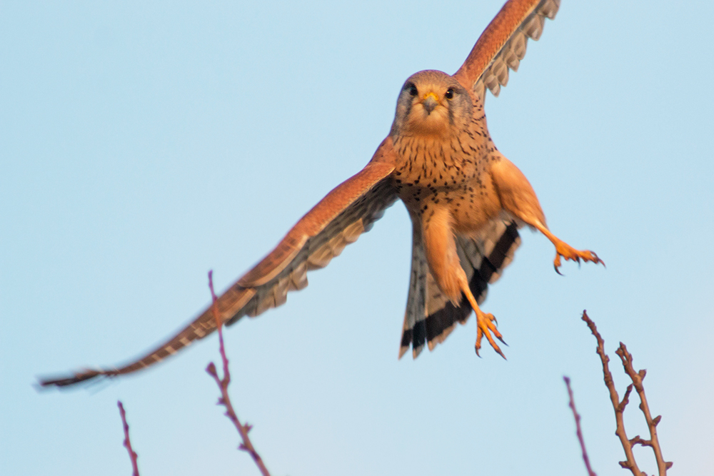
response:
<path id="1" fill-rule="evenodd" d="M 253 475 L 204 368 L 215 337 L 129 378 L 38 375 L 143 353 L 226 288 L 388 133 L 403 81 L 453 73 L 501 0 L 0 2 L 0 468 Z M 397 203 L 287 305 L 226 332 L 231 394 L 273 475 L 585 474 L 623 451 L 587 309 L 647 368 L 671 475 L 714 465 L 714 4 L 563 0 L 486 113 L 550 228 L 491 288 L 508 361 L 473 317 L 397 360 L 411 226 Z M 630 437 L 646 435 L 638 401 Z M 655 472 L 651 453 L 640 467 Z"/>

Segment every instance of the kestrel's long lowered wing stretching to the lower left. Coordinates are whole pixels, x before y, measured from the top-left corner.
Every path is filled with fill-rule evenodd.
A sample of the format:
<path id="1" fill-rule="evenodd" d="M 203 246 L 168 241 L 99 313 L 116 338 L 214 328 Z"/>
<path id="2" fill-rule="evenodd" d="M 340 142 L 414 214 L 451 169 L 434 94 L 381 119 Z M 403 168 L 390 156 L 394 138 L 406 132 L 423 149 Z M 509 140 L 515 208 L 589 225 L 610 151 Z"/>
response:
<path id="1" fill-rule="evenodd" d="M 346 245 L 369 231 L 396 201 L 396 190 L 389 178 L 393 163 L 391 138 L 386 138 L 365 168 L 328 193 L 271 253 L 218 298 L 218 314 L 223 323 L 231 325 L 244 315 L 256 316 L 285 303 L 288 291 L 300 290 L 308 284 L 308 270 L 325 267 Z M 132 373 L 164 360 L 213 330 L 216 320 L 209 307 L 139 360 L 121 368 L 89 369 L 67 378 L 41 380 L 40 384 L 64 387 L 103 375 Z"/>

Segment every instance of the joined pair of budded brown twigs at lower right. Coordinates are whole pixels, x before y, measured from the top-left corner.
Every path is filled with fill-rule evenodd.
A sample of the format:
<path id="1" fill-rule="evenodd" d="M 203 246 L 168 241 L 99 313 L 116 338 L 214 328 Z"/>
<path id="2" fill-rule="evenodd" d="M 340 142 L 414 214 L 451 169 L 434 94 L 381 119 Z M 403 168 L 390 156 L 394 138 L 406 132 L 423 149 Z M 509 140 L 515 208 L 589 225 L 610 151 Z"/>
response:
<path id="1" fill-rule="evenodd" d="M 625 367 L 625 373 L 628 374 L 633 383 L 628 385 L 627 390 L 625 390 L 625 395 L 623 399 L 620 400 L 618 391 L 615 389 L 615 383 L 613 382 L 613 374 L 610 373 L 608 368 L 608 362 L 610 358 L 605 354 L 605 342 L 603 338 L 598 333 L 598 328 L 595 326 L 592 320 L 588 317 L 588 313 L 583 310 L 583 320 L 588 324 L 588 328 L 598 340 L 598 348 L 596 349 L 598 355 L 600 355 L 600 360 L 603 361 L 603 375 L 605 376 L 605 385 L 610 391 L 610 400 L 613 402 L 613 408 L 615 409 L 615 421 L 617 422 L 617 428 L 615 429 L 615 435 L 620 438 L 620 443 L 623 445 L 623 450 L 625 450 L 625 456 L 627 460 L 620 461 L 620 466 L 628 469 L 632 472 L 634 476 L 647 476 L 645 472 L 640 471 L 640 468 L 635 462 L 635 456 L 633 455 L 632 448 L 634 445 L 640 444 L 643 446 L 652 447 L 655 452 L 655 459 L 657 460 L 657 467 L 660 476 L 665 476 L 667 470 L 672 467 L 673 462 L 665 462 L 662 457 L 662 452 L 660 450 L 659 441 L 657 439 L 656 427 L 660 422 L 661 416 L 655 417 L 654 419 L 650 416 L 650 408 L 647 405 L 647 400 L 645 399 L 645 390 L 642 386 L 642 380 L 645 378 L 645 370 L 640 370 L 636 373 L 632 367 L 632 355 L 628 353 L 627 348 L 623 343 L 620 343 L 620 348 L 615 351 L 620 356 L 623 361 L 623 366 Z M 650 427 L 650 440 L 643 440 L 639 435 L 629 439 L 627 433 L 625 432 L 625 423 L 623 421 L 623 412 L 625 411 L 625 406 L 630 402 L 630 393 L 632 393 L 633 385 L 635 390 L 637 390 L 638 395 L 640 395 L 640 409 L 645 414 L 645 419 Z"/>

